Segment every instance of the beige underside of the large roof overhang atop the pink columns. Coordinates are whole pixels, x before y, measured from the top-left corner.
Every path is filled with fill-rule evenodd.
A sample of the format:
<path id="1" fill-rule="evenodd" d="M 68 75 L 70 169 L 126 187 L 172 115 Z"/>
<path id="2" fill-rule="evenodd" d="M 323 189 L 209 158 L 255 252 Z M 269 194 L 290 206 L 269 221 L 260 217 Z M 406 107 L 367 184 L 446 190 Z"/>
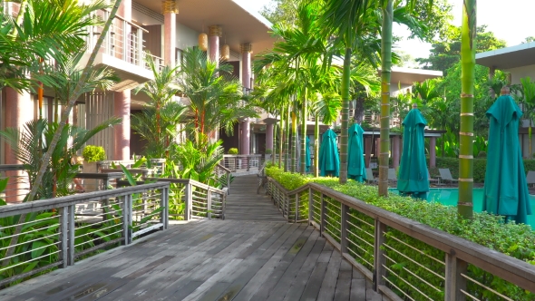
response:
<path id="1" fill-rule="evenodd" d="M 158 14 L 161 1 L 134 0 Z M 230 49 L 240 51 L 240 44 L 252 44 L 254 53 L 273 48 L 275 37 L 269 34 L 271 24 L 257 12 L 248 11 L 233 0 L 180 0 L 177 22 L 208 34 L 209 25 L 220 25 Z"/>

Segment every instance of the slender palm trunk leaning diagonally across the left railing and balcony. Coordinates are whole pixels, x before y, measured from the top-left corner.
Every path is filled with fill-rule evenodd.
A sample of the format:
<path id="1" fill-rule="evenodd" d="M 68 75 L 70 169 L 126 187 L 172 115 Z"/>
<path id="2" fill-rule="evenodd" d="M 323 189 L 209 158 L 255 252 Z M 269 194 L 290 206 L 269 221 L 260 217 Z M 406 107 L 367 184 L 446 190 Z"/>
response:
<path id="1" fill-rule="evenodd" d="M 27 1 L 23 1 L 23 3 L 26 3 Z M 23 4 L 21 3 L 21 5 Z M 119 5 L 121 5 L 121 0 L 115 0 L 115 5 L 113 5 L 112 12 L 110 13 L 110 17 L 108 20 L 106 20 L 106 24 L 104 24 L 104 27 L 102 28 L 102 33 L 99 35 L 99 39 L 97 40 L 97 43 L 95 44 L 91 56 L 89 57 L 89 60 L 87 61 L 87 64 L 85 65 L 85 68 L 83 69 L 82 76 L 80 76 L 80 79 L 78 80 L 78 84 L 76 85 L 76 88 L 73 92 L 73 97 L 69 100 L 67 106 L 65 107 L 65 110 L 63 110 L 62 114 L 62 121 L 58 125 L 58 128 L 53 134 L 53 139 L 50 143 L 50 146 L 48 147 L 48 150 L 46 153 L 44 153 L 44 158 L 41 160 L 41 166 L 39 168 L 39 171 L 37 172 L 37 175 L 35 176 L 35 181 L 32 183 L 32 189 L 30 190 L 30 193 L 28 194 L 26 201 L 33 201 L 35 199 L 35 195 L 37 194 L 37 190 L 41 186 L 43 182 L 43 176 L 44 172 L 47 170 L 50 158 L 52 157 L 53 150 L 55 150 L 55 147 L 60 140 L 60 136 L 62 134 L 63 128 L 65 127 L 65 124 L 69 120 L 69 114 L 71 113 L 71 110 L 73 110 L 74 103 L 76 100 L 80 97 L 82 94 L 83 85 L 87 81 L 87 76 L 90 73 L 90 69 L 92 68 L 92 64 L 94 63 L 94 60 L 99 53 L 99 49 L 102 46 L 102 42 L 104 41 L 104 37 L 106 33 L 108 33 L 108 30 L 110 29 L 110 25 L 112 25 L 113 18 L 115 18 L 115 15 L 117 14 L 117 10 L 119 9 Z M 19 220 L 19 225 L 15 228 L 15 233 L 13 234 L 13 237 L 11 238 L 11 241 L 9 243 L 9 248 L 7 248 L 7 251 L 5 252 L 5 259 L 2 261 L 2 266 L 7 266 L 9 264 L 9 261 L 11 260 L 10 257 L 15 252 L 15 244 L 18 240 L 18 236 L 22 231 L 23 225 L 20 224 L 20 222 L 24 222 L 26 219 L 26 214 L 21 214 Z"/>

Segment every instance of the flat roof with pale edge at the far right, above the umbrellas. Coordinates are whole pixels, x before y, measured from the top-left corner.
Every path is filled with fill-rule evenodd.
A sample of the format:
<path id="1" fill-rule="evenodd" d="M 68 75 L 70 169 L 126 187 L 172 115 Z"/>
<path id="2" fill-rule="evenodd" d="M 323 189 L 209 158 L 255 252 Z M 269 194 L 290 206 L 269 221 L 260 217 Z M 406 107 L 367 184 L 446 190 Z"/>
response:
<path id="1" fill-rule="evenodd" d="M 535 64 L 535 42 L 477 53 L 475 63 L 501 70 Z"/>

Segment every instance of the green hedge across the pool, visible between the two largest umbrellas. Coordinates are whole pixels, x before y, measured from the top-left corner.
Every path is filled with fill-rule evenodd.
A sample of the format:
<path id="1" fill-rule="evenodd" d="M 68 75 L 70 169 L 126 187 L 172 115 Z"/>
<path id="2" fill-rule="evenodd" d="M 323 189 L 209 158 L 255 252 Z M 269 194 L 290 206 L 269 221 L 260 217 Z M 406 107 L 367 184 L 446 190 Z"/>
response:
<path id="1" fill-rule="evenodd" d="M 427 159 L 429 166 L 429 159 Z M 452 171 L 453 178 L 459 178 L 459 158 L 449 158 L 449 157 L 437 157 L 436 158 L 436 170 L 429 170 L 431 175 L 439 175 L 438 169 L 450 169 Z M 474 158 L 473 159 L 473 181 L 476 183 L 485 182 L 485 170 L 487 170 L 487 159 L 486 158 Z M 528 170 L 535 170 L 535 160 L 524 160 L 524 170 L 526 173 Z"/>

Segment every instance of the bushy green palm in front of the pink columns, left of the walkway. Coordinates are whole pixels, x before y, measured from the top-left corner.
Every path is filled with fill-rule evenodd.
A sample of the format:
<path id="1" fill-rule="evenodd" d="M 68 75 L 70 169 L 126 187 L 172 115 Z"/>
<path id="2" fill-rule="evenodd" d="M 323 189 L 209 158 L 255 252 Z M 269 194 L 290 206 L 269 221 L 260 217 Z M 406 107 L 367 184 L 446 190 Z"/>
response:
<path id="1" fill-rule="evenodd" d="M 186 49 L 182 59 L 178 84 L 190 100 L 196 132 L 207 134 L 222 125 L 231 134 L 239 117 L 258 115 L 244 97 L 241 83 L 231 75 L 231 65 L 212 62 L 199 48 Z"/>

